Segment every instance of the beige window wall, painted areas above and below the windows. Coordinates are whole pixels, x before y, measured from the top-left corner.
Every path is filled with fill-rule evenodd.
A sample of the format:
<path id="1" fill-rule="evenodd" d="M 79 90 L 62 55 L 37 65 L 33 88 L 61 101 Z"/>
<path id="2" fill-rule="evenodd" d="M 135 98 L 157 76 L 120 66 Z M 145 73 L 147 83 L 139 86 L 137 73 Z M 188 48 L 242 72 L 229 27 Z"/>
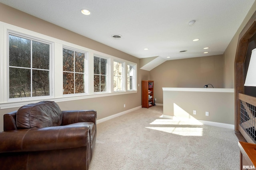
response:
<path id="1" fill-rule="evenodd" d="M 0 3 L 0 21 L 16 25 L 31 31 L 42 33 L 57 39 L 68 41 L 89 49 L 100 51 L 108 55 L 119 57 L 128 61 L 137 63 L 138 65 L 138 83 L 141 84 L 143 79 L 148 78 L 149 73 L 147 71 L 141 71 L 139 69 L 140 62 L 139 59 L 108 47 L 102 43 L 93 41 L 74 32 L 68 31 L 62 27 L 58 27 L 52 23 L 40 20 L 34 16 L 30 16 L 21 11 L 10 8 L 4 4 Z M 133 94 L 123 94 L 116 96 L 75 100 L 70 102 L 59 102 L 60 108 L 62 110 L 72 110 L 72 109 L 96 109 L 98 113 L 98 119 L 120 113 L 122 111 L 132 109 L 134 107 L 141 106 L 141 88 L 138 87 L 138 92 Z M 126 107 L 124 108 L 124 104 Z M 0 109 L 0 131 L 3 130 L 3 115 L 10 111 L 15 111 L 18 108 L 11 109 Z"/>

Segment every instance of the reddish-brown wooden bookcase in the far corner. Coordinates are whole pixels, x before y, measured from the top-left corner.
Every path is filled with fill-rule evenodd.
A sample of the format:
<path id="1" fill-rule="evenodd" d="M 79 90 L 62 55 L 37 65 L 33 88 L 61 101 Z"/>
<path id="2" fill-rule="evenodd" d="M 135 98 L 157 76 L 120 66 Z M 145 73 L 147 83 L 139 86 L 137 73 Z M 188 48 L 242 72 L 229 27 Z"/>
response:
<path id="1" fill-rule="evenodd" d="M 142 107 L 154 106 L 154 81 L 142 80 Z"/>

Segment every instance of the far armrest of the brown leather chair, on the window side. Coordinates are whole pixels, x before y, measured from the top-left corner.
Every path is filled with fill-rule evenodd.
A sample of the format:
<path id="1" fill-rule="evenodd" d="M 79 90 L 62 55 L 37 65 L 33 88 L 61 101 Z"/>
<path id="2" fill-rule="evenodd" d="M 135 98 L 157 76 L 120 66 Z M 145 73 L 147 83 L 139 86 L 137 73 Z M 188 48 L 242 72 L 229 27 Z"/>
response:
<path id="1" fill-rule="evenodd" d="M 62 125 L 78 122 L 92 122 L 96 127 L 96 110 L 69 110 L 62 111 Z"/>

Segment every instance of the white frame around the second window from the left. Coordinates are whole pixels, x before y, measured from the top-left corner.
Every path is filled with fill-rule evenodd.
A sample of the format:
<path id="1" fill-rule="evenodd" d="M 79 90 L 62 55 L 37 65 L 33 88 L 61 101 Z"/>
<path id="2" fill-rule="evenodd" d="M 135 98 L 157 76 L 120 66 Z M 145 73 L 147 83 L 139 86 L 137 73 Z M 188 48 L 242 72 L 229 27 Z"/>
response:
<path id="1" fill-rule="evenodd" d="M 84 96 L 86 94 L 88 94 L 88 51 L 82 51 L 80 49 L 76 49 L 73 47 L 68 47 L 63 45 L 62 49 L 68 49 L 68 50 L 72 50 L 75 52 L 79 52 L 79 53 L 84 53 L 84 93 L 74 93 L 74 94 L 63 94 L 63 96 Z M 63 76 L 63 55 L 62 55 L 62 76 Z M 62 79 L 62 89 L 63 89 L 63 79 Z M 63 90 L 62 90 L 63 91 Z"/>

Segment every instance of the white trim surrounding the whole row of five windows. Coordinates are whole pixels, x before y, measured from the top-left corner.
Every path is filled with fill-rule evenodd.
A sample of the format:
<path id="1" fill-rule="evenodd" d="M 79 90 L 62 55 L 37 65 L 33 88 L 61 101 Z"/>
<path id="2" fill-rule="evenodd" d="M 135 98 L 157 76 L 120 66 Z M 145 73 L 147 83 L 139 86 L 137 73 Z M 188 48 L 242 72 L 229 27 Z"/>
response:
<path id="1" fill-rule="evenodd" d="M 8 31 L 11 30 L 17 33 L 29 35 L 32 37 L 36 37 L 38 39 L 46 40 L 47 42 L 53 42 L 52 43 L 52 96 L 43 96 L 43 97 L 33 97 L 31 98 L 22 98 L 22 100 L 19 101 L 10 101 L 8 99 Z M 23 29 L 14 25 L 10 25 L 8 23 L 0 22 L 0 66 L 1 66 L 1 74 L 0 74 L 0 109 L 6 109 L 6 108 L 13 108 L 13 107 L 21 107 L 26 104 L 40 102 L 42 100 L 51 100 L 54 102 L 65 102 L 65 101 L 71 101 L 71 100 L 81 100 L 81 99 L 88 99 L 88 98 L 98 98 L 98 97 L 105 97 L 105 96 L 114 96 L 114 95 L 122 95 L 122 94 L 131 94 L 131 93 L 137 93 L 137 86 L 135 86 L 136 90 L 127 90 L 127 70 L 126 66 L 127 64 L 132 64 L 136 67 L 136 77 L 135 77 L 135 84 L 137 84 L 137 64 L 126 61 L 124 59 L 120 59 L 118 57 L 114 57 L 112 55 L 108 55 L 105 53 L 101 53 L 99 51 L 95 51 L 92 49 L 88 49 L 86 47 L 82 47 L 80 45 L 72 44 L 66 41 L 62 41 L 60 39 L 56 39 L 47 35 L 43 35 L 40 33 L 36 33 L 34 31 L 30 31 L 28 29 Z M 63 55 L 62 55 L 62 48 L 63 47 L 70 47 L 72 49 L 78 49 L 78 51 L 85 51 L 88 52 L 88 58 L 87 58 L 87 94 L 82 94 L 78 96 L 66 96 L 63 95 Z M 94 93 L 94 55 L 99 57 L 104 57 L 108 59 L 108 91 L 103 93 Z M 113 85 L 113 61 L 117 60 L 124 63 L 124 82 L 125 82 L 125 91 L 124 92 L 114 92 L 114 85 Z M 58 64 L 57 64 L 58 63 Z"/>

